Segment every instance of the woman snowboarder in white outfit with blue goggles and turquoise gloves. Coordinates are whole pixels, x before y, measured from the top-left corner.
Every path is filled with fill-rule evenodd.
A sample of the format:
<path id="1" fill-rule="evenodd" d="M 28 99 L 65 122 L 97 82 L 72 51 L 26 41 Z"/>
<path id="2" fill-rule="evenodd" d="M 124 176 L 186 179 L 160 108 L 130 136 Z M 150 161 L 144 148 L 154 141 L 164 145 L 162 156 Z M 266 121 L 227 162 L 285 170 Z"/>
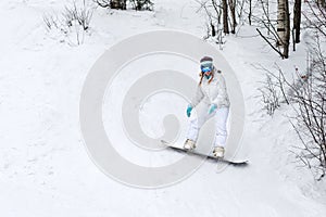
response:
<path id="1" fill-rule="evenodd" d="M 187 150 L 196 149 L 196 141 L 202 125 L 211 117 L 215 118 L 215 139 L 213 154 L 216 157 L 224 157 L 226 144 L 226 120 L 229 113 L 229 99 L 221 71 L 216 71 L 213 59 L 204 56 L 200 60 L 200 81 L 196 95 L 187 107 L 187 116 L 190 117 L 191 111 L 200 102 L 203 106 L 197 110 L 197 118 L 190 120 L 187 140 L 184 148 Z"/>

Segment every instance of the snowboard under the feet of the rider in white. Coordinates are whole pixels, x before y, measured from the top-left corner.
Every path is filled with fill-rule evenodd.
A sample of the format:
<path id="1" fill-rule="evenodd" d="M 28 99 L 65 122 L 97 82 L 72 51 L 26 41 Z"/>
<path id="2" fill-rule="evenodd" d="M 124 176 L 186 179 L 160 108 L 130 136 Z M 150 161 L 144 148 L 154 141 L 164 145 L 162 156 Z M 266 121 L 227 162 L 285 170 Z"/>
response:
<path id="1" fill-rule="evenodd" d="M 177 152 L 181 152 L 181 153 L 186 153 L 186 154 L 193 154 L 193 155 L 199 155 L 201 157 L 206 157 L 208 159 L 213 159 L 216 162 L 223 162 L 223 163 L 227 163 L 230 165 L 235 165 L 235 166 L 244 166 L 248 164 L 248 159 L 231 159 L 231 158 L 221 158 L 221 157 L 216 157 L 212 154 L 205 154 L 202 153 L 200 151 L 197 151 L 196 149 L 192 151 L 186 150 L 184 148 L 180 146 L 176 146 L 174 143 L 170 143 L 165 140 L 161 140 L 162 144 L 165 145 L 166 148 L 177 151 Z"/>

